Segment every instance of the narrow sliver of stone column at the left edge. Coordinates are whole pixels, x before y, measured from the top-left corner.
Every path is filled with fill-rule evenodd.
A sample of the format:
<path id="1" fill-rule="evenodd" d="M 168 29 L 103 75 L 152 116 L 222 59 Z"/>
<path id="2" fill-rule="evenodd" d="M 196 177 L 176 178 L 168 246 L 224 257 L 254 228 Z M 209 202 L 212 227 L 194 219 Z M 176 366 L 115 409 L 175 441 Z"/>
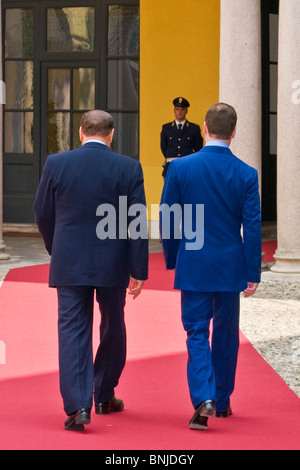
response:
<path id="1" fill-rule="evenodd" d="M 2 5 L 0 1 L 0 86 L 4 86 L 2 82 L 2 21 L 1 21 L 1 12 L 2 12 Z M 3 88 L 2 88 L 3 90 Z M 4 245 L 3 242 L 3 174 L 2 174 L 2 169 L 3 169 L 3 104 L 4 100 L 3 97 L 5 97 L 5 93 L 1 93 L 0 90 L 0 261 L 9 259 L 9 255 L 5 253 L 5 248 L 6 246 Z"/>

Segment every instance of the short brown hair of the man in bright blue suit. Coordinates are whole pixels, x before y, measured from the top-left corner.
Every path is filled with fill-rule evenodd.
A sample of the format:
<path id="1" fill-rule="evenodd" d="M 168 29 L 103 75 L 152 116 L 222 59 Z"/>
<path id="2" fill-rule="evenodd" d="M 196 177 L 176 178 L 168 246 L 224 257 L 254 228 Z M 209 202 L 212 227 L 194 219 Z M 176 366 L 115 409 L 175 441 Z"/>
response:
<path id="1" fill-rule="evenodd" d="M 220 140 L 229 140 L 236 127 L 237 114 L 229 104 L 217 103 L 207 111 L 205 122 L 209 135 Z"/>

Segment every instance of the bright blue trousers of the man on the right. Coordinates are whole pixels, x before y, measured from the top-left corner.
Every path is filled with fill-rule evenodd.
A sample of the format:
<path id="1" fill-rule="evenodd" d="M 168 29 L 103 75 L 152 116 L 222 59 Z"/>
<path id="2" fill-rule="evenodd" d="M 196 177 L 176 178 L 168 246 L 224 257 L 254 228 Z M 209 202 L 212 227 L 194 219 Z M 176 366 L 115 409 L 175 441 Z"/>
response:
<path id="1" fill-rule="evenodd" d="M 187 332 L 187 376 L 192 404 L 196 408 L 205 400 L 214 400 L 218 412 L 226 411 L 235 384 L 240 294 L 182 291 L 181 309 Z"/>

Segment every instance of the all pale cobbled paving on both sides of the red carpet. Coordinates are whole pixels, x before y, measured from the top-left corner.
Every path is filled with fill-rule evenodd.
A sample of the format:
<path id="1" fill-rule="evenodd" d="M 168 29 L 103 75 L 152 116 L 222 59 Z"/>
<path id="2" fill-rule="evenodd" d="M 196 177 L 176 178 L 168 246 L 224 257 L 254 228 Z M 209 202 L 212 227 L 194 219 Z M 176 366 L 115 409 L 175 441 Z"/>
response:
<path id="1" fill-rule="evenodd" d="M 11 258 L 0 260 L 0 285 L 9 269 L 48 263 L 40 237 L 5 237 Z M 160 251 L 150 241 L 150 252 Z M 241 296 L 241 331 L 300 398 L 300 274 L 280 275 L 269 268 L 253 297 Z"/>

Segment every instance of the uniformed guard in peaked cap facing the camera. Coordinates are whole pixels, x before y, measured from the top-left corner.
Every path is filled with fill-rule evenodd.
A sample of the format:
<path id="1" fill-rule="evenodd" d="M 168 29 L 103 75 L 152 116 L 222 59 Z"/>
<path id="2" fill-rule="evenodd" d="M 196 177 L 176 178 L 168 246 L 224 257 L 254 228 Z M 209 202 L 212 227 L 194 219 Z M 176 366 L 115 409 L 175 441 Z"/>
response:
<path id="1" fill-rule="evenodd" d="M 165 157 L 163 177 L 174 158 L 198 152 L 203 147 L 203 138 L 198 124 L 186 119 L 190 103 L 182 97 L 173 100 L 175 120 L 162 126 L 160 147 Z"/>

